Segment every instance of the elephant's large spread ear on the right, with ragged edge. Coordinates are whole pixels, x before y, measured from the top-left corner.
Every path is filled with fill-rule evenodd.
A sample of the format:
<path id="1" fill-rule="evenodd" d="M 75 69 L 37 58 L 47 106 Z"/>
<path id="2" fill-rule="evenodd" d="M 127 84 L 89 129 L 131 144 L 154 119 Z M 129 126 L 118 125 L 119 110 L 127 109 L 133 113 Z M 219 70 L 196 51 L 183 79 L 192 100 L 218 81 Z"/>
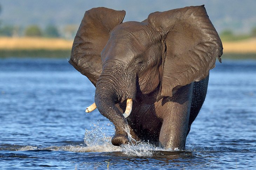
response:
<path id="1" fill-rule="evenodd" d="M 203 5 L 155 12 L 148 22 L 161 32 L 166 44 L 158 100 L 207 77 L 217 57 L 221 62 L 222 43 Z"/>

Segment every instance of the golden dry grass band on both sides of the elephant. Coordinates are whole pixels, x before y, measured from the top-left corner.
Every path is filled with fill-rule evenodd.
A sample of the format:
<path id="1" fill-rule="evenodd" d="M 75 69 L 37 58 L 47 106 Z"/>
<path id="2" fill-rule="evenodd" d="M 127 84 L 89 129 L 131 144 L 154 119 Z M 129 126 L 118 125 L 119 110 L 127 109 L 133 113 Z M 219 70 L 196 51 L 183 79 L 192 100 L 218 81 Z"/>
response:
<path id="1" fill-rule="evenodd" d="M 0 37 L 1 50 L 71 50 L 73 40 L 60 38 Z M 224 53 L 256 53 L 256 38 L 223 42 Z"/>

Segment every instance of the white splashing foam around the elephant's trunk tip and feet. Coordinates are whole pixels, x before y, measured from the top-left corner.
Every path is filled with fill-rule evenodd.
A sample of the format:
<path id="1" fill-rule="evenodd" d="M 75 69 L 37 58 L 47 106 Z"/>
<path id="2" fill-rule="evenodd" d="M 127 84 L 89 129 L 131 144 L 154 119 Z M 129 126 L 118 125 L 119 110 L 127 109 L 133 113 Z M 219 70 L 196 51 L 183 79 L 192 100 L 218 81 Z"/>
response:
<path id="1" fill-rule="evenodd" d="M 105 126 L 105 125 L 103 125 Z M 112 126 L 108 124 L 107 126 Z M 112 128 L 112 127 L 110 127 Z M 104 132 L 103 132 L 103 131 Z M 150 145 L 149 143 L 136 142 L 129 133 L 127 127 L 126 132 L 128 138 L 131 141 L 128 145 L 114 146 L 111 143 L 112 135 L 105 134 L 106 128 L 93 124 L 91 130 L 85 130 L 84 143 L 86 145 L 66 145 L 66 146 L 50 146 L 46 148 L 38 148 L 34 146 L 25 146 L 20 148 L 20 151 L 24 150 L 53 150 L 53 151 L 70 151 L 70 152 L 115 152 L 121 151 L 123 154 L 130 156 L 153 156 L 156 151 L 178 151 L 178 148 L 163 149 Z M 136 143 L 136 144 L 135 144 Z"/>

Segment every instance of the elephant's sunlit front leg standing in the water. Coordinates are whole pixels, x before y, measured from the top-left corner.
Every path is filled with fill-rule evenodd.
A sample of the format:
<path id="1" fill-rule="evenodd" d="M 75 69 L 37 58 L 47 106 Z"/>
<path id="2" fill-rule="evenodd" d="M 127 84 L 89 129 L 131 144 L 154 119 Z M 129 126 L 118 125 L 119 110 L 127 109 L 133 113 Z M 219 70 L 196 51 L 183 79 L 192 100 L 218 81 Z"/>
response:
<path id="1" fill-rule="evenodd" d="M 193 86 L 194 83 L 188 84 L 180 88 L 173 97 L 162 101 L 163 108 L 169 111 L 162 113 L 163 124 L 159 142 L 164 148 L 185 147 Z"/>

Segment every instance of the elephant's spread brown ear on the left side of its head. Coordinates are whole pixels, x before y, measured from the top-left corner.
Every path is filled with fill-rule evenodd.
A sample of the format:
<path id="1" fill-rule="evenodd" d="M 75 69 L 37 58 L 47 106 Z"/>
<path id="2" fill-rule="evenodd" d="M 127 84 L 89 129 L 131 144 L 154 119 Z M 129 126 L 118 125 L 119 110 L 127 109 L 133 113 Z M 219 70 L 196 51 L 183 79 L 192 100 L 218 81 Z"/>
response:
<path id="1" fill-rule="evenodd" d="M 72 46 L 69 63 L 96 85 L 102 72 L 101 51 L 110 31 L 122 23 L 125 11 L 104 7 L 86 11 Z"/>

